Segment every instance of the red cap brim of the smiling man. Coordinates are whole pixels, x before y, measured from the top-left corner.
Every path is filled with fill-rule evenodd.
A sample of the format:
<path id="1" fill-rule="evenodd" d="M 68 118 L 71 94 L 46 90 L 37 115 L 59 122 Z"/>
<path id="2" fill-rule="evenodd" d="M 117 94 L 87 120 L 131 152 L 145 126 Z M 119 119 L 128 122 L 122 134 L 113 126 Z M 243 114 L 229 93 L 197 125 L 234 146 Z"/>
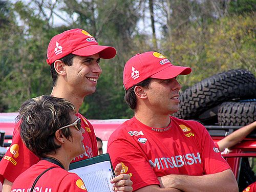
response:
<path id="1" fill-rule="evenodd" d="M 111 59 L 116 56 L 116 49 L 109 46 L 91 45 L 72 52 L 78 56 L 91 56 L 97 53 L 102 59 Z"/>

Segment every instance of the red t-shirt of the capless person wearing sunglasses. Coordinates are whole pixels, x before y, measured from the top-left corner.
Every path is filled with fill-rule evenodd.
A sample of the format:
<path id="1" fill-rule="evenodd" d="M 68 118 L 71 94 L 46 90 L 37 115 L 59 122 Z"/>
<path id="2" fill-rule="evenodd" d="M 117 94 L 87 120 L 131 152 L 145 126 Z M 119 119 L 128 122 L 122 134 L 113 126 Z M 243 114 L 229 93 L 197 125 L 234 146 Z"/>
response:
<path id="1" fill-rule="evenodd" d="M 87 191 L 80 177 L 46 160 L 39 161 L 20 174 L 13 182 L 11 191 L 29 191 L 37 176 L 50 167 L 57 168 L 48 170 L 39 178 L 34 187 L 35 191 Z"/>

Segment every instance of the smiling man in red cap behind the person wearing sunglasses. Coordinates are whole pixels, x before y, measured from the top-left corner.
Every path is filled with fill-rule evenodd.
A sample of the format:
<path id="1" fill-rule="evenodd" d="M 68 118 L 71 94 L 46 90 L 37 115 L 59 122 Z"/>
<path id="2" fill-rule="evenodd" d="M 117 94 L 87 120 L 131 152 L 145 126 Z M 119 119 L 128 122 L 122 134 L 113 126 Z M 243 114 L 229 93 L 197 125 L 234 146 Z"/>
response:
<path id="1" fill-rule="evenodd" d="M 96 90 L 97 80 L 102 72 L 100 58 L 111 59 L 115 55 L 115 48 L 99 46 L 95 38 L 82 29 L 65 31 L 54 36 L 49 43 L 46 61 L 51 66 L 53 79 L 51 95 L 65 98 L 75 106 L 76 116 L 81 119 L 81 127 L 86 131 L 83 134 L 86 152 L 72 162 L 98 155 L 93 126 L 78 111 L 84 97 Z M 5 179 L 3 192 L 10 191 L 15 178 L 39 160 L 20 139 L 19 124 L 20 122 L 14 129 L 12 145 L 0 162 L 0 180 Z M 116 172 L 120 171 L 121 164 L 118 164 Z M 132 190 L 132 182 L 126 174 L 117 176 L 114 182 L 116 190 Z"/>

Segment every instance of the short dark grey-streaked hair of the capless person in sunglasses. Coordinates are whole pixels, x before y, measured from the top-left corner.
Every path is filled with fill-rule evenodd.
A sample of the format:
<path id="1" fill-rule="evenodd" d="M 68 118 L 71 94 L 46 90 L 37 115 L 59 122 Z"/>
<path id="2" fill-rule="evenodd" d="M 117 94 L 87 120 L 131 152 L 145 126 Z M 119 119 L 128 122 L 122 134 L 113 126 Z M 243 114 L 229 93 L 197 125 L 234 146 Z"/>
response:
<path id="1" fill-rule="evenodd" d="M 62 98 L 48 95 L 28 99 L 19 108 L 16 121 L 20 122 L 20 137 L 38 157 L 55 153 L 61 147 L 54 142 L 55 132 L 62 126 L 71 124 L 70 112 L 75 113 L 74 105 Z M 69 139 L 69 129 L 62 130 Z"/>

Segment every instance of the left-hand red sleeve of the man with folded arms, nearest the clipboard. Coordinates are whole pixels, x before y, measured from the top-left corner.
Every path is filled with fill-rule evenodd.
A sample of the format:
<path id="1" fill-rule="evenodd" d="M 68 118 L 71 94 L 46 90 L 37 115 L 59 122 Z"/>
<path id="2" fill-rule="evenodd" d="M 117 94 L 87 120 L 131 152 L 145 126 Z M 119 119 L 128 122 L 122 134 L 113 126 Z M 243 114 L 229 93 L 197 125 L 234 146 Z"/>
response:
<path id="1" fill-rule="evenodd" d="M 130 175 L 133 181 L 133 190 L 148 186 L 160 185 L 156 174 L 144 153 L 133 140 L 110 139 L 108 153 L 110 154 L 113 166 L 122 164 L 121 173 Z"/>

